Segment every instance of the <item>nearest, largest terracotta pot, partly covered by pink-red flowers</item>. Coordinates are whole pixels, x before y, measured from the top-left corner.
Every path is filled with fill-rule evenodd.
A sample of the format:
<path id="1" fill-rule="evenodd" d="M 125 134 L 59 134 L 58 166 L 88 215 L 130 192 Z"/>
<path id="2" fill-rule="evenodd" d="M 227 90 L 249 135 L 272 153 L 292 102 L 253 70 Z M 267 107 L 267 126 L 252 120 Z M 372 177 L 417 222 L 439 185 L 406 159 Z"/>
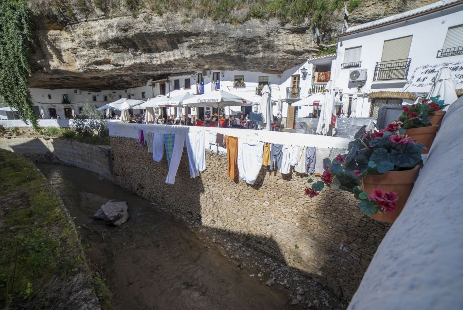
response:
<path id="1" fill-rule="evenodd" d="M 411 170 L 389 171 L 382 175 L 367 175 L 363 178 L 362 189 L 370 196 L 373 189 L 382 189 L 385 192 L 395 192 L 399 195 L 396 209 L 392 212 L 377 213 L 370 216 L 380 222 L 394 223 L 404 209 L 408 196 L 412 192 L 413 185 L 420 171 L 420 166 L 415 166 Z"/>

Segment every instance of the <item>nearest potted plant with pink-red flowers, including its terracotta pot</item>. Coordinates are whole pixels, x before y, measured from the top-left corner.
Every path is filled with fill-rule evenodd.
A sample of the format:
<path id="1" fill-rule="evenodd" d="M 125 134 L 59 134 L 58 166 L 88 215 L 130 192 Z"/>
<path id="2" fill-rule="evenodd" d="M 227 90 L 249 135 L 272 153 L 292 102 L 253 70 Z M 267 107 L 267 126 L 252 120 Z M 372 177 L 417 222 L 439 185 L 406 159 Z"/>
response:
<path id="1" fill-rule="evenodd" d="M 325 185 L 348 191 L 366 215 L 392 223 L 412 191 L 424 147 L 404 135 L 397 122 L 381 131 L 365 132 L 365 127 L 349 143 L 348 154 L 323 160 L 322 181 L 306 188 L 306 195 L 318 196 Z"/>

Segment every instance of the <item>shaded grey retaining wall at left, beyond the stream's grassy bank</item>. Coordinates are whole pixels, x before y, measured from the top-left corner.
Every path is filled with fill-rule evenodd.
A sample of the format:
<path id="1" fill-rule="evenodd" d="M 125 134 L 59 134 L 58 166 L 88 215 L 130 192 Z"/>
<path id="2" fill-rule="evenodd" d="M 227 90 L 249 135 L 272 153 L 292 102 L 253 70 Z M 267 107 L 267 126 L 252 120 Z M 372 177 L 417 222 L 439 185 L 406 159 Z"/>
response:
<path id="1" fill-rule="evenodd" d="M 0 149 L 18 153 L 37 162 L 76 166 L 113 180 L 112 153 L 109 146 L 61 138 L 12 136 L 0 137 Z"/>

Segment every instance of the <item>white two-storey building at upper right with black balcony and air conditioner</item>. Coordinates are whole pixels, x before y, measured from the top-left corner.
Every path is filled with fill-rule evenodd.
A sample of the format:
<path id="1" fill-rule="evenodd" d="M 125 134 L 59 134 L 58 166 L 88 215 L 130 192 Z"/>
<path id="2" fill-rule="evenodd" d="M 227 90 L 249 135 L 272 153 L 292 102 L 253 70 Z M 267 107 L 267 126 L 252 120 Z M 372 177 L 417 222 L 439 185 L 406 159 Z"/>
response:
<path id="1" fill-rule="evenodd" d="M 461 0 L 438 1 L 349 27 L 338 38 L 331 70 L 339 92 L 364 97 L 356 115 L 376 118 L 382 104 L 411 102 L 410 93 L 427 94 L 444 66 L 453 72 L 457 88 L 462 88 Z"/>

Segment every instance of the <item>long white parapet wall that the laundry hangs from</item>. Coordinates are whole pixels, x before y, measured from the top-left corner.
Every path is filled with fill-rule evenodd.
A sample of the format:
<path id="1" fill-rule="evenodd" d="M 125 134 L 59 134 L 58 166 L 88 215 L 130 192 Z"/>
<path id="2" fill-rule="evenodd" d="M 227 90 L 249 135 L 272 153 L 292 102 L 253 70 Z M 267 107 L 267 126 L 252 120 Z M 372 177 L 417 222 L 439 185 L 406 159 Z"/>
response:
<path id="1" fill-rule="evenodd" d="M 312 146 L 317 147 L 317 159 L 315 165 L 315 172 L 323 172 L 323 159 L 328 157 L 329 149 L 331 148 L 344 148 L 347 146 L 350 139 L 328 137 L 320 135 L 309 135 L 302 133 L 289 133 L 277 131 L 263 131 L 263 130 L 250 130 L 250 129 L 232 129 L 232 128 L 218 128 L 218 127 L 198 127 L 198 126 L 178 126 L 178 125 L 151 125 L 151 124 L 134 124 L 122 122 L 109 123 L 109 135 L 125 138 L 138 139 L 138 129 L 143 129 L 149 132 L 175 134 L 178 132 L 191 132 L 197 130 L 204 130 L 212 133 L 222 133 L 224 135 L 233 136 L 237 138 L 248 138 L 254 141 L 262 141 L 276 144 L 296 145 L 296 146 Z M 208 138 L 206 137 L 206 141 Z M 206 143 L 208 146 L 208 143 Z M 226 152 L 223 148 L 216 148 L 219 152 Z"/>

